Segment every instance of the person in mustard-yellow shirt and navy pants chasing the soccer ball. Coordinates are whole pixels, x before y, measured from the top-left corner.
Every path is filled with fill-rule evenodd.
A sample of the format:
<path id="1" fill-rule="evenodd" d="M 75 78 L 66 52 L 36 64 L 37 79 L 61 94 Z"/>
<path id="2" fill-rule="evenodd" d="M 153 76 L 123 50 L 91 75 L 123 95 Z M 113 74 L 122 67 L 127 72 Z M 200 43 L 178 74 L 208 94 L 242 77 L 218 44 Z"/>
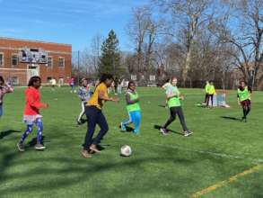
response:
<path id="1" fill-rule="evenodd" d="M 88 129 L 83 143 L 81 154 L 85 158 L 92 157 L 89 152 L 101 152 L 97 145 L 109 130 L 108 123 L 101 109 L 107 101 L 118 102 L 118 98 L 111 98 L 108 95 L 107 89 L 113 82 L 113 76 L 104 74 L 101 76 L 99 85 L 96 86 L 92 97 L 86 104 L 85 113 L 88 119 Z M 101 130 L 97 137 L 93 139 L 96 125 L 99 125 Z"/>

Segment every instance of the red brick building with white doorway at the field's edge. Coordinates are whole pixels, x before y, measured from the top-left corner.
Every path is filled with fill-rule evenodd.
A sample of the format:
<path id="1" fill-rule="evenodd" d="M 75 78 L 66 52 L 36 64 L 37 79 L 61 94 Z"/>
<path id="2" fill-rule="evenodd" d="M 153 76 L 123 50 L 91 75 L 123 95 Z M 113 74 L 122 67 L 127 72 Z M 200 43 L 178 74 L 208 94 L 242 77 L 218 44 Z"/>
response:
<path id="1" fill-rule="evenodd" d="M 44 51 L 45 61 L 22 61 L 23 49 Z M 63 84 L 72 72 L 72 46 L 38 40 L 19 40 L 0 37 L 0 75 L 13 84 L 26 85 L 31 76 L 40 76 L 47 84 L 53 77 Z"/>

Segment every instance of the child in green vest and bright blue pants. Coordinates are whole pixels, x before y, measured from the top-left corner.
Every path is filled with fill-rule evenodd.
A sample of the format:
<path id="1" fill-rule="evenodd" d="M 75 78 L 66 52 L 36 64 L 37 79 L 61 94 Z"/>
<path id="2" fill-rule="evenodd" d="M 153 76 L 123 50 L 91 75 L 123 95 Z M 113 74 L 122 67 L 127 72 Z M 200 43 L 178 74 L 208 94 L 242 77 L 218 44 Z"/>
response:
<path id="1" fill-rule="evenodd" d="M 140 132 L 140 121 L 141 121 L 141 108 L 139 104 L 140 98 L 136 93 L 136 84 L 133 81 L 130 81 L 127 85 L 126 92 L 126 103 L 127 103 L 127 113 L 128 119 L 120 123 L 121 130 L 127 130 L 126 127 L 130 123 L 134 123 L 135 129 L 134 133 L 139 134 Z"/>

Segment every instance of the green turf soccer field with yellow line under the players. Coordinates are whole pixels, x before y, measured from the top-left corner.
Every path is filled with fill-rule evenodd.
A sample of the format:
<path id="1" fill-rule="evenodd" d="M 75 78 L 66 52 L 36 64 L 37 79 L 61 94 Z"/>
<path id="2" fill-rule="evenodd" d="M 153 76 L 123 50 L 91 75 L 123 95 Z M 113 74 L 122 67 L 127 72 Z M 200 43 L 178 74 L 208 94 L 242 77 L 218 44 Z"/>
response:
<path id="1" fill-rule="evenodd" d="M 86 125 L 76 127 L 80 101 L 68 88 L 42 88 L 45 151 L 36 151 L 36 130 L 26 139 L 26 151 L 15 144 L 25 129 L 22 123 L 23 88 L 4 98 L 0 124 L 0 197 L 262 197 L 263 93 L 255 92 L 248 122 L 241 122 L 236 92 L 227 94 L 228 109 L 206 109 L 199 89 L 181 89 L 188 128 L 183 137 L 179 120 L 162 136 L 169 112 L 163 108 L 161 88 L 138 88 L 141 97 L 141 134 L 120 132 L 127 118 L 124 95 L 120 103 L 106 103 L 110 130 L 100 154 L 80 155 Z M 97 128 L 98 130 L 98 128 Z M 31 140 L 32 139 L 32 140 Z M 129 145 L 131 157 L 120 157 Z"/>

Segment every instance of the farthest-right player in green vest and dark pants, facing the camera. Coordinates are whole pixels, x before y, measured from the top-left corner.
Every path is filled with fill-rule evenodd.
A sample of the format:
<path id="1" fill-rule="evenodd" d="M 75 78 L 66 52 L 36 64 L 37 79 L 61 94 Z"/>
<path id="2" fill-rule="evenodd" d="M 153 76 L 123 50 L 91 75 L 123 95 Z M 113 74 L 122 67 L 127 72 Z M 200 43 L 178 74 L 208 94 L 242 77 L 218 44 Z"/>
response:
<path id="1" fill-rule="evenodd" d="M 251 94 L 252 89 L 250 88 L 250 86 L 247 86 L 245 81 L 241 80 L 237 97 L 238 104 L 241 105 L 243 109 L 242 121 L 247 121 L 247 115 L 250 113 Z"/>

